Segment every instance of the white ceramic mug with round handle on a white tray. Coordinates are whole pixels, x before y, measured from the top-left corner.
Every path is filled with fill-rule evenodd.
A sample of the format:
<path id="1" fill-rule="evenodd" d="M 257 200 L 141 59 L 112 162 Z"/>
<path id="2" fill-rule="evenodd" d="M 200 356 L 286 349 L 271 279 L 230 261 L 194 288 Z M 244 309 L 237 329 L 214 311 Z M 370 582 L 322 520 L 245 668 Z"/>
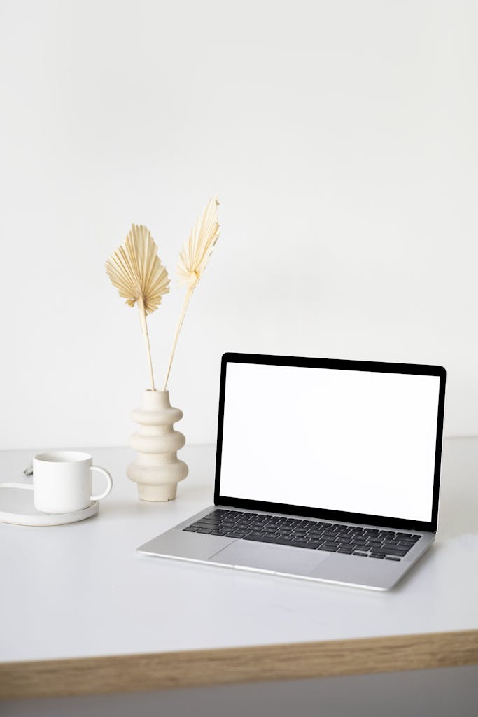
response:
<path id="1" fill-rule="evenodd" d="M 92 493 L 92 471 L 105 475 L 107 488 Z M 42 513 L 72 513 L 88 508 L 113 488 L 113 479 L 104 468 L 92 465 L 89 453 L 57 450 L 39 453 L 33 459 L 33 503 Z"/>

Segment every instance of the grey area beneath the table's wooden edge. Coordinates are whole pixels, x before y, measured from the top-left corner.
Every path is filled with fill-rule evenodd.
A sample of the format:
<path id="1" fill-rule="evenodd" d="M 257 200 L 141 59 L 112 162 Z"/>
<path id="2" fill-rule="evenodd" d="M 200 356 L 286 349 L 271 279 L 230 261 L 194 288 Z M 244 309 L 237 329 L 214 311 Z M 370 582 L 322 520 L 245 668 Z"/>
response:
<path id="1" fill-rule="evenodd" d="M 478 665 L 383 675 L 0 702 L 2 717 L 477 717 Z"/>

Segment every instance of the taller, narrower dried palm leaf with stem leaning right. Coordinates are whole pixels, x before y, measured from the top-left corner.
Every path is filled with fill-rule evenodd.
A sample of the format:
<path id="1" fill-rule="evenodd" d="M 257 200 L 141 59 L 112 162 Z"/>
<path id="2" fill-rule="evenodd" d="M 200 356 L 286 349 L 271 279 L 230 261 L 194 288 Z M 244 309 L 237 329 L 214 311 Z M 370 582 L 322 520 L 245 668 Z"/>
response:
<path id="1" fill-rule="evenodd" d="M 181 285 L 186 285 L 186 296 L 184 298 L 183 308 L 179 316 L 176 334 L 174 336 L 173 348 L 169 357 L 168 370 L 166 371 L 166 380 L 164 381 L 163 391 L 166 391 L 168 385 L 169 374 L 171 372 L 171 364 L 173 363 L 176 344 L 178 343 L 179 332 L 183 326 L 184 315 L 193 295 L 193 291 L 201 280 L 209 257 L 211 257 L 214 244 L 219 238 L 219 222 L 217 219 L 217 209 L 219 201 L 217 197 L 209 199 L 204 207 L 201 217 L 197 220 L 187 242 L 183 246 L 183 250 L 179 255 L 178 261 L 178 281 Z"/>

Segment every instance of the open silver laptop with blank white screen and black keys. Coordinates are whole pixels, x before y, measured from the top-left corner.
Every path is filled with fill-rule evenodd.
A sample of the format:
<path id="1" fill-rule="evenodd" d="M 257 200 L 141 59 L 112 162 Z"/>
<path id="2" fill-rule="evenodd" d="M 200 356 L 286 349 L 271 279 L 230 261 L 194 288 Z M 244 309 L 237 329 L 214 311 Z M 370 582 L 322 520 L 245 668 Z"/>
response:
<path id="1" fill-rule="evenodd" d="M 434 542 L 442 366 L 225 353 L 214 505 L 138 548 L 388 590 Z"/>

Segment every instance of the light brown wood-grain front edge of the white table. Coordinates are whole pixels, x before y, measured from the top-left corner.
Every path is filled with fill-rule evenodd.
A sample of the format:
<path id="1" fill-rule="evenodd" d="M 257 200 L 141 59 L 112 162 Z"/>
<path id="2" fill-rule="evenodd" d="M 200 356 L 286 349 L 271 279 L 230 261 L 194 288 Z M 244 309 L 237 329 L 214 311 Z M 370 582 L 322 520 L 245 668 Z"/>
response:
<path id="1" fill-rule="evenodd" d="M 138 692 L 478 664 L 478 630 L 0 663 L 0 698 Z"/>

